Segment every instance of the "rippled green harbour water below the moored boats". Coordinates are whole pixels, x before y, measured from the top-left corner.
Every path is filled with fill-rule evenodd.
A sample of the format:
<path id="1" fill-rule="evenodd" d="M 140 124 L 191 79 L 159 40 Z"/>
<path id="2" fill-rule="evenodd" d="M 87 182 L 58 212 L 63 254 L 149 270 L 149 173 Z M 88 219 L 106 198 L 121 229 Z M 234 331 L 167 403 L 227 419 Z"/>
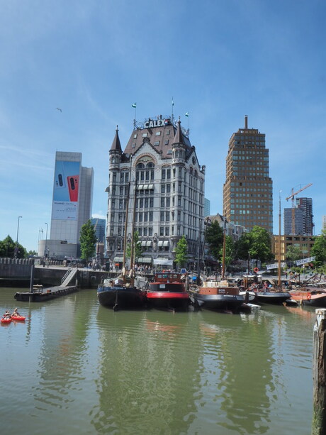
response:
<path id="1" fill-rule="evenodd" d="M 96 290 L 0 289 L 0 421 L 15 434 L 310 434 L 315 312 L 113 312 Z M 2 314 L 1 312 L 1 314 Z"/>

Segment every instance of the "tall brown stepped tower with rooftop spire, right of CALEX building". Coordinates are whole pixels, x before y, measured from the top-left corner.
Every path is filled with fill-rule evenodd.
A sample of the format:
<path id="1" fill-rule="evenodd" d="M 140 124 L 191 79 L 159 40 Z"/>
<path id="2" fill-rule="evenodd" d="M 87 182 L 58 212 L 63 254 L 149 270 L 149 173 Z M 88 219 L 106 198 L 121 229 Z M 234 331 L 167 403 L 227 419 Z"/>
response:
<path id="1" fill-rule="evenodd" d="M 273 233 L 273 182 L 269 150 L 256 128 L 239 128 L 229 141 L 223 185 L 223 214 L 228 221 L 251 230 L 254 225 Z"/>

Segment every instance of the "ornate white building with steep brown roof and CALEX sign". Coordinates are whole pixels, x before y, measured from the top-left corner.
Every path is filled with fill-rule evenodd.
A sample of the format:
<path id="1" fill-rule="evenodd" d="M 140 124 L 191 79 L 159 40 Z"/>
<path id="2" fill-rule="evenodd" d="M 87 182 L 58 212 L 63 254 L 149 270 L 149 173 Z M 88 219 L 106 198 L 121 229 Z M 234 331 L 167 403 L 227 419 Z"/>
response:
<path id="1" fill-rule="evenodd" d="M 122 263 L 127 219 L 127 240 L 134 224 L 142 246 L 137 263 L 171 266 L 185 236 L 190 265 L 203 228 L 205 166 L 199 165 L 180 120 L 157 116 L 135 122 L 124 151 L 117 128 L 109 158 L 107 255 Z"/>

